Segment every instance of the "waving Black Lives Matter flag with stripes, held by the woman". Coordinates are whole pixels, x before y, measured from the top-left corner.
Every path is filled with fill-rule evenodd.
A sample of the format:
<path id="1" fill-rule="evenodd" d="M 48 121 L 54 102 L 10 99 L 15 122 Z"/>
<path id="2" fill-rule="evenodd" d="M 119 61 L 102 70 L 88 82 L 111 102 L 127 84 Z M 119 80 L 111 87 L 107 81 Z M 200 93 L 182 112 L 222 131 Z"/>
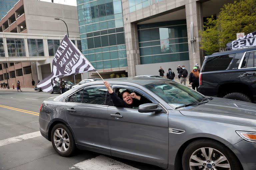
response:
<path id="1" fill-rule="evenodd" d="M 37 84 L 45 92 L 51 92 L 59 77 L 87 71 L 96 71 L 79 49 L 66 35 L 52 61 L 52 73 Z"/>

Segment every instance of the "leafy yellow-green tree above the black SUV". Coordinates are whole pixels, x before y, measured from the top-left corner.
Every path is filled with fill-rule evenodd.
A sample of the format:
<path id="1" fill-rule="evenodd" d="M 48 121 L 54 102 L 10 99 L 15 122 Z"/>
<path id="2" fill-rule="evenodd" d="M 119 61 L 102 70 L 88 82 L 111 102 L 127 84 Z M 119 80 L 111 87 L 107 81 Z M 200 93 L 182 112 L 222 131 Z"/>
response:
<path id="1" fill-rule="evenodd" d="M 221 8 L 219 16 L 207 19 L 204 31 L 200 31 L 201 49 L 207 54 L 226 48 L 228 42 L 236 40 L 236 33 L 245 35 L 256 31 L 256 0 L 241 0 L 228 3 Z"/>

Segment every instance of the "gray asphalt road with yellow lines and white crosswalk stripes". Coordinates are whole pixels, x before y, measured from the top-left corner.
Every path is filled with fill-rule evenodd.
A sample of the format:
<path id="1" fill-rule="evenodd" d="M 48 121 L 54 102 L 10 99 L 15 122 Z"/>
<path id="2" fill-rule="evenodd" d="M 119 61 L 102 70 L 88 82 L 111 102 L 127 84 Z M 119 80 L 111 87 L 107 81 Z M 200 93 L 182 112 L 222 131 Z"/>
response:
<path id="1" fill-rule="evenodd" d="M 40 135 L 42 102 L 59 94 L 0 91 L 0 170 L 162 170 L 140 162 L 78 150 L 59 156 Z"/>

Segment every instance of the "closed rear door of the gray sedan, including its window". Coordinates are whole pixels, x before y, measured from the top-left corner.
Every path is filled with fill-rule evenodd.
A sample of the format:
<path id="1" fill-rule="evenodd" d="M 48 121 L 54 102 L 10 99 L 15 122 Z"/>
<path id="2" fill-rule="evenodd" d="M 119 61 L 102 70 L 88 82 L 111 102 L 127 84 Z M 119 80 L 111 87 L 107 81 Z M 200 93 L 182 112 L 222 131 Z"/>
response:
<path id="1" fill-rule="evenodd" d="M 65 113 L 78 145 L 110 154 L 106 94 L 103 85 L 80 89 L 68 97 Z"/>

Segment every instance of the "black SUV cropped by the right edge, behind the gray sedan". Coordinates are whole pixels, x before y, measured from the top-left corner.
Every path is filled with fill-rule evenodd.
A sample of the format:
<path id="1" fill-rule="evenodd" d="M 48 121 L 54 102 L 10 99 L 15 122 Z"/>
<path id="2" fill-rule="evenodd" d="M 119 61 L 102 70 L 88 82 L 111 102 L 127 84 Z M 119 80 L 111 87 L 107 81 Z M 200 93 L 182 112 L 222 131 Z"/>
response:
<path id="1" fill-rule="evenodd" d="M 198 92 L 206 96 L 256 102 L 256 47 L 205 56 Z"/>

